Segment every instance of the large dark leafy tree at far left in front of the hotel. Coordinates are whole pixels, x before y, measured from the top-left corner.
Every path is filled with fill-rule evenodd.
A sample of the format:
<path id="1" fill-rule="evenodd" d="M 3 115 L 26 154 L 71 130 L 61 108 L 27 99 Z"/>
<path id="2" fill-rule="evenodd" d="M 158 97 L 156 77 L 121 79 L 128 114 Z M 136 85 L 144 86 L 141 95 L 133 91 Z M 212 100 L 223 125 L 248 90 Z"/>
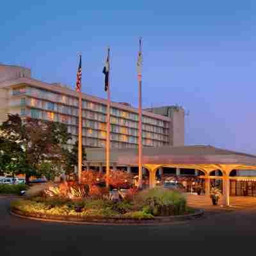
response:
<path id="1" fill-rule="evenodd" d="M 25 174 L 27 183 L 32 175 L 40 175 L 38 168 L 45 161 L 51 161 L 56 166 L 63 163 L 65 144 L 70 139 L 65 124 L 32 118 L 21 120 L 17 114 L 8 114 L 0 132 L 4 143 L 2 155 L 8 157 L 10 154 L 12 161 L 9 165 L 15 161 L 10 168 L 6 165 L 6 171 Z"/>

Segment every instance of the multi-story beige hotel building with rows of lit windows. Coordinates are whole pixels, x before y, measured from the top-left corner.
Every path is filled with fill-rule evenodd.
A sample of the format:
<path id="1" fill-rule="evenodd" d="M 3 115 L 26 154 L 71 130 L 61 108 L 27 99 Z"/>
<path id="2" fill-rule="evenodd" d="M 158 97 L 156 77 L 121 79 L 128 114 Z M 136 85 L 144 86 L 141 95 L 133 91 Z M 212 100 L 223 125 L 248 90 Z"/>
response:
<path id="1" fill-rule="evenodd" d="M 83 93 L 83 145 L 105 147 L 107 100 Z M 143 147 L 184 145 L 184 109 L 165 113 L 143 111 Z M 78 93 L 60 83 L 31 77 L 29 68 L 0 65 L 0 123 L 6 113 L 67 124 L 72 134 L 68 147 L 77 141 Z M 138 147 L 138 109 L 111 102 L 111 147 Z"/>

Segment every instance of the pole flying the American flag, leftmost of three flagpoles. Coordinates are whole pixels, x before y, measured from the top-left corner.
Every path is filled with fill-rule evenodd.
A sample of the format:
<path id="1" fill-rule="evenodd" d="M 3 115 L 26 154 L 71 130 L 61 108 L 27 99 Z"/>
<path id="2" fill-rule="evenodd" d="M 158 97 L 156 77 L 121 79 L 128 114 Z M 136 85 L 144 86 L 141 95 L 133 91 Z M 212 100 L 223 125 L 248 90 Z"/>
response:
<path id="1" fill-rule="evenodd" d="M 80 55 L 81 58 L 82 55 Z M 79 124 L 78 124 L 78 183 L 82 181 L 82 92 L 79 90 Z"/>

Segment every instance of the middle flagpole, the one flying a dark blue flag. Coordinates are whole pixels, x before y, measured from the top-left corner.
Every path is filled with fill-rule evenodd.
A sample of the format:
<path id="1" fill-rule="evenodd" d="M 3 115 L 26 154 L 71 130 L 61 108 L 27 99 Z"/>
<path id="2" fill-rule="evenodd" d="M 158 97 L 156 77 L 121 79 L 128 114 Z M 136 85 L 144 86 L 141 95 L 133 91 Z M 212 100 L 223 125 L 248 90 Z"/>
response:
<path id="1" fill-rule="evenodd" d="M 110 49 L 108 48 L 108 64 L 110 55 Z M 108 72 L 110 71 L 110 65 L 108 66 Z M 109 187 L 109 175 L 110 175 L 110 86 L 109 86 L 109 73 L 108 73 L 108 108 L 107 108 L 107 140 L 106 140 L 106 186 Z"/>

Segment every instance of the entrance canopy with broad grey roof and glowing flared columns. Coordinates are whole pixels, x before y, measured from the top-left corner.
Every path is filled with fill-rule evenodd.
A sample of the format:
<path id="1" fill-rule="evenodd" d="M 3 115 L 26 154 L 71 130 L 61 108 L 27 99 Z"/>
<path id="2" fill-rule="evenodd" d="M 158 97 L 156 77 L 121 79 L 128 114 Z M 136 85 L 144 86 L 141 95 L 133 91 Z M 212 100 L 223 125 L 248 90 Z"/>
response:
<path id="1" fill-rule="evenodd" d="M 104 163 L 106 150 L 86 150 L 87 161 Z M 120 166 L 138 166 L 137 148 L 111 149 L 111 162 Z M 148 169 L 150 187 L 155 186 L 156 172 L 161 167 L 189 168 L 205 173 L 205 194 L 210 193 L 210 173 L 221 170 L 223 204 L 229 205 L 229 175 L 232 170 L 256 170 L 256 156 L 205 145 L 143 148 L 143 166 Z"/>

